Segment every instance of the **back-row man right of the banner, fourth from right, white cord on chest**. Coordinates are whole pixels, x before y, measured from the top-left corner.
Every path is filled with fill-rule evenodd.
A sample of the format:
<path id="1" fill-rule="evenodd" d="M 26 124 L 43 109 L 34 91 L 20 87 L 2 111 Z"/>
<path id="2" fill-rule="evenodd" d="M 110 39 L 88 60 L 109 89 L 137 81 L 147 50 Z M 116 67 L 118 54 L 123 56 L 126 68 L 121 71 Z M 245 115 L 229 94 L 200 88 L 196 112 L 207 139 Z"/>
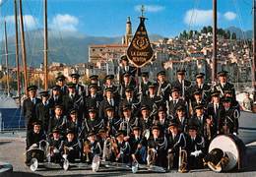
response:
<path id="1" fill-rule="evenodd" d="M 166 100 L 170 93 L 171 85 L 166 82 L 165 71 L 160 71 L 158 73 L 158 86 L 157 86 L 157 95 L 161 96 L 163 100 Z"/>

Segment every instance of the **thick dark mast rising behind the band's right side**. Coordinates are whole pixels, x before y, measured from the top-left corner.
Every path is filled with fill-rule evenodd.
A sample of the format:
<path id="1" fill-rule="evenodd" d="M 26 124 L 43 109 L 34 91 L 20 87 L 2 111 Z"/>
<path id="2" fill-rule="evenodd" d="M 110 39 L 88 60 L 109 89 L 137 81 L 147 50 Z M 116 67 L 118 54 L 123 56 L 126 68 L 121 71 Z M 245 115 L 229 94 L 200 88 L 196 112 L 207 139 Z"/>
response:
<path id="1" fill-rule="evenodd" d="M 213 70 L 212 70 L 212 82 L 217 78 L 217 0 L 213 0 Z"/>

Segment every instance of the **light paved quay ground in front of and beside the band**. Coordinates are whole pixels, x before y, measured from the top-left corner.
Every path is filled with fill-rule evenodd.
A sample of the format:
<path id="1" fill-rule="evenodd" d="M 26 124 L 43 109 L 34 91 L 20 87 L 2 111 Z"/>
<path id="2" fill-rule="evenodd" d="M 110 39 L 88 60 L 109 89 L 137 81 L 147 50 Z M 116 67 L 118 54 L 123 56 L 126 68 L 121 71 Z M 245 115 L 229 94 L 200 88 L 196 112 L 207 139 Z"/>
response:
<path id="1" fill-rule="evenodd" d="M 70 171 L 64 171 L 62 169 L 41 169 L 32 173 L 31 170 L 24 164 L 25 160 L 25 139 L 22 135 L 12 135 L 12 134 L 1 134 L 0 133 L 0 161 L 9 162 L 13 165 L 14 172 L 10 175 L 4 175 L 4 177 L 8 176 L 194 176 L 194 177 L 212 177 L 212 176 L 230 176 L 230 177 L 249 177 L 256 176 L 256 144 L 252 144 L 249 147 L 249 155 L 247 157 L 249 163 L 247 168 L 242 170 L 241 172 L 233 172 L 233 173 L 214 173 L 208 169 L 204 169 L 201 171 L 193 171 L 185 174 L 180 173 L 164 173 L 164 174 L 156 174 L 149 173 L 147 171 L 140 172 L 138 174 L 132 174 L 130 171 L 116 171 L 116 170 L 100 170 L 96 173 L 91 170 L 72 168 Z M 3 176 L 3 175 L 2 175 Z M 2 177 L 0 174 L 0 177 Z"/>

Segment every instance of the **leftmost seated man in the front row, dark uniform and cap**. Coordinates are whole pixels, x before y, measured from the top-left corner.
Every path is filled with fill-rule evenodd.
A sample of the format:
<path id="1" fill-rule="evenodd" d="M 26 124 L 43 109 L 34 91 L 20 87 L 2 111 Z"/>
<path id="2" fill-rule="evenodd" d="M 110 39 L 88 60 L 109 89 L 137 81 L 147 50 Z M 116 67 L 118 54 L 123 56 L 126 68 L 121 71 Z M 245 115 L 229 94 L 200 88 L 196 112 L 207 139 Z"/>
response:
<path id="1" fill-rule="evenodd" d="M 38 148 L 38 144 L 40 141 L 45 140 L 45 134 L 43 133 L 43 131 L 41 130 L 41 122 L 40 121 L 35 121 L 32 123 L 32 131 L 29 131 L 27 133 L 27 147 L 26 149 L 30 149 L 30 148 Z M 27 156 L 27 159 L 25 161 L 26 164 L 29 163 L 29 159 Z"/>

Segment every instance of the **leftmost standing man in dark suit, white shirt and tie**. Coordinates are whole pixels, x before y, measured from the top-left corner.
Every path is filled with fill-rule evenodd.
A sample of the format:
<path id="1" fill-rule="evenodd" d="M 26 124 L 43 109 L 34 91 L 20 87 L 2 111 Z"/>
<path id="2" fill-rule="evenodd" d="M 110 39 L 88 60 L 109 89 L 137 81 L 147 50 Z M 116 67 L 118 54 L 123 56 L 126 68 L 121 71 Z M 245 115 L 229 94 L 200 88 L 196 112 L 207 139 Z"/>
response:
<path id="1" fill-rule="evenodd" d="M 29 97 L 23 101 L 22 112 L 28 131 L 32 130 L 32 123 L 36 121 L 35 106 L 41 102 L 41 100 L 36 97 L 36 90 L 36 86 L 28 87 Z"/>

